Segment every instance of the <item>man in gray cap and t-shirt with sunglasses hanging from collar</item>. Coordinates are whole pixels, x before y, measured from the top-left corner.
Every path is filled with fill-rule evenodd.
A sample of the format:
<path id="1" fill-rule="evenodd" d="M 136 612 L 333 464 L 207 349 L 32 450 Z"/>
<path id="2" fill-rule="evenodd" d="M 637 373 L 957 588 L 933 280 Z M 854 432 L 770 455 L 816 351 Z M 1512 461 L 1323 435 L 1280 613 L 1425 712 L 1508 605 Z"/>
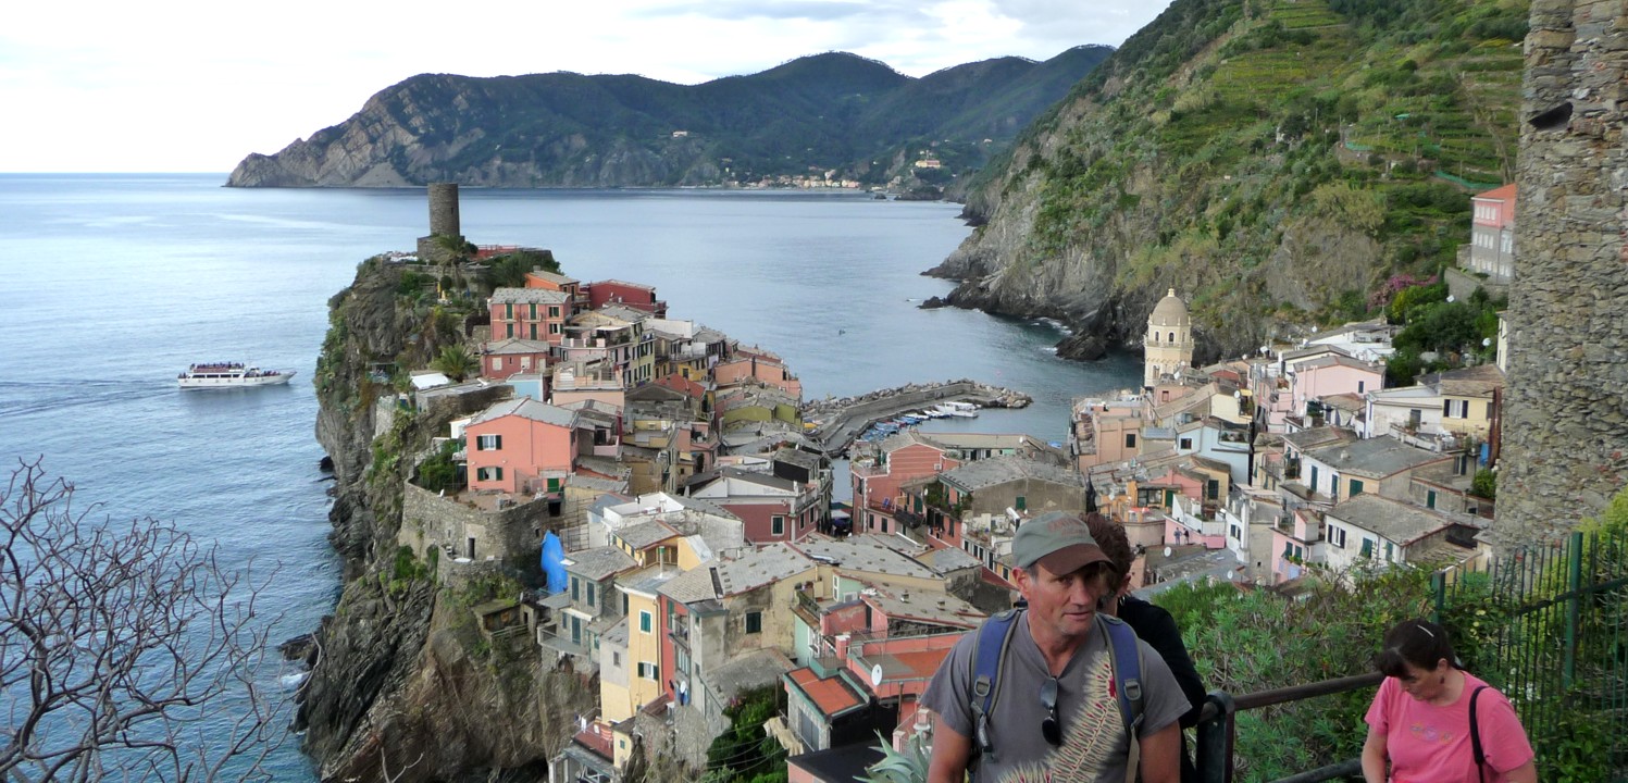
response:
<path id="1" fill-rule="evenodd" d="M 1169 666 L 1146 641 L 1141 650 L 1141 716 L 1130 737 L 1115 693 L 1105 617 L 1114 565 L 1079 516 L 1060 511 L 1022 523 L 1013 537 L 1013 580 L 1027 601 L 1013 623 L 987 720 L 988 747 L 974 726 L 974 646 L 956 643 L 921 706 L 938 713 L 928 783 L 1027 783 L 1040 780 L 1122 783 L 1130 742 L 1144 783 L 1180 778 L 1180 726 L 1188 710 Z M 975 759 L 977 755 L 977 759 Z"/>

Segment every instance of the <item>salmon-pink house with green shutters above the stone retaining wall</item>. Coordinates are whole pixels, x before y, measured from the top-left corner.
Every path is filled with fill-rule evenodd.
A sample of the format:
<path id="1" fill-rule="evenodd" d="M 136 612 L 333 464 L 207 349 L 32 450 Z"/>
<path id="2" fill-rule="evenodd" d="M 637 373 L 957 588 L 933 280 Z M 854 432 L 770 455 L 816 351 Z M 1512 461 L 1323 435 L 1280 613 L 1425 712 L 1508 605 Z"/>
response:
<path id="1" fill-rule="evenodd" d="M 578 415 L 531 397 L 498 402 L 464 426 L 472 492 L 562 492 L 578 454 Z"/>

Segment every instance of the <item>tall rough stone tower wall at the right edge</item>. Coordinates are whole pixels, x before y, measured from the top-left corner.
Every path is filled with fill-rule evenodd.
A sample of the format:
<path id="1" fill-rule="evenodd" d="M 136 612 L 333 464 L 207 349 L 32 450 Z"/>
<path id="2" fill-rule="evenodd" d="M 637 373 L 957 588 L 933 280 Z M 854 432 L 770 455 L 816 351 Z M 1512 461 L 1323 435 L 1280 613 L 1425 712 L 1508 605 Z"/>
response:
<path id="1" fill-rule="evenodd" d="M 1493 539 L 1548 539 L 1628 482 L 1628 7 L 1532 0 Z"/>

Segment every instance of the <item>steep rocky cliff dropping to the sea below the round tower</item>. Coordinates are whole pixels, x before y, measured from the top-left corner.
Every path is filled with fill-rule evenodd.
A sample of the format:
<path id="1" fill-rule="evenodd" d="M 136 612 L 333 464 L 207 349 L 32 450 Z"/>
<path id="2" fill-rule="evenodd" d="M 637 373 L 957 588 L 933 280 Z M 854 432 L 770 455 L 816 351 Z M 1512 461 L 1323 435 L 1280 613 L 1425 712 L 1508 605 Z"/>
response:
<path id="1" fill-rule="evenodd" d="M 397 544 L 415 456 L 456 412 L 397 413 L 381 368 L 423 366 L 462 332 L 404 293 L 412 273 L 370 259 L 329 301 L 316 433 L 334 461 L 345 588 L 314 635 L 296 728 L 322 780 L 537 780 L 591 710 L 588 684 L 482 638 L 470 606 L 513 586 L 438 578 Z"/>

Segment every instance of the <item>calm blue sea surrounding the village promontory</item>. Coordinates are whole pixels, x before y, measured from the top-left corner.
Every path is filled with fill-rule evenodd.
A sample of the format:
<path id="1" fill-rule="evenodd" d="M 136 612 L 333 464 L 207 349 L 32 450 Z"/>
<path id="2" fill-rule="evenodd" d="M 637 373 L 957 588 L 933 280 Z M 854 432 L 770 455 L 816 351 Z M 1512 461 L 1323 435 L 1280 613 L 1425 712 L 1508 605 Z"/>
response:
<path id="1" fill-rule="evenodd" d="M 358 262 L 412 251 L 428 203 L 423 189 L 225 181 L 0 174 L 0 459 L 41 461 L 96 519 L 164 519 L 218 545 L 226 566 L 265 580 L 278 641 L 316 628 L 340 589 L 311 386 L 327 301 Z M 1061 443 L 1070 402 L 1135 386 L 1140 360 L 1066 361 L 1058 324 L 920 309 L 952 288 L 921 270 L 969 236 L 959 212 L 856 192 L 461 192 L 470 241 L 552 249 L 580 280 L 654 285 L 669 317 L 780 353 L 807 399 L 972 378 L 1034 404 L 926 430 Z M 298 374 L 182 392 L 194 361 Z M 269 671 L 267 687 L 287 693 L 288 674 Z M 298 737 L 272 772 L 316 780 Z"/>

